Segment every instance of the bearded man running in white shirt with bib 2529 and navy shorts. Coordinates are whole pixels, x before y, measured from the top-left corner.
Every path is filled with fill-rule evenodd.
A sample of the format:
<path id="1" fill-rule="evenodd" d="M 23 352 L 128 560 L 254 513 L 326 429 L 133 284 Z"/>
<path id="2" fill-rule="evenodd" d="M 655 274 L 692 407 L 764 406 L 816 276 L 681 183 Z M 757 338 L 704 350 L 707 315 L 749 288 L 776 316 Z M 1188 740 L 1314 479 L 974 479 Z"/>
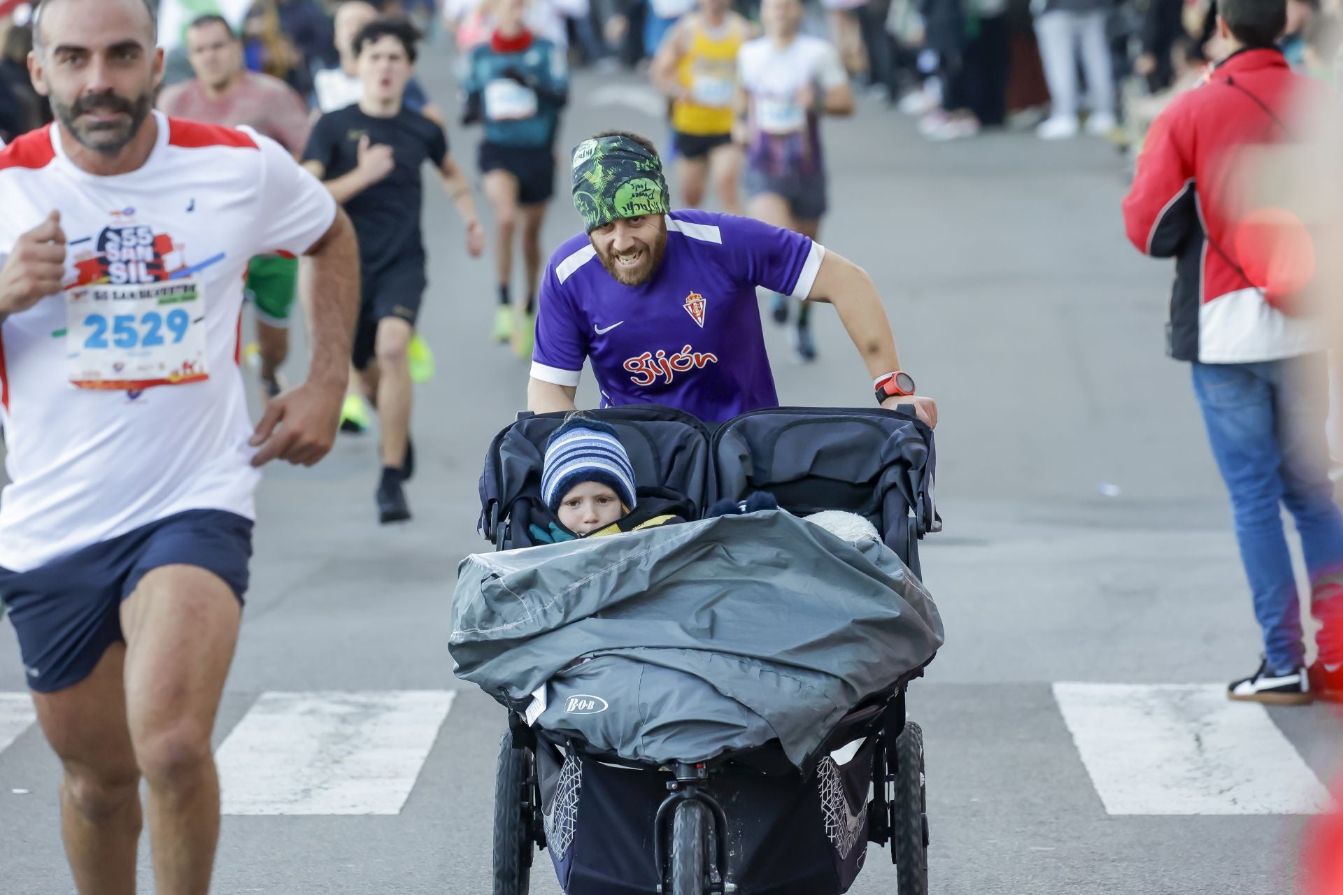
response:
<path id="1" fill-rule="evenodd" d="M 330 450 L 355 329 L 349 220 L 275 141 L 152 111 L 154 31 L 146 0 L 44 0 L 56 123 L 0 150 L 0 598 L 82 895 L 136 891 L 141 778 L 154 890 L 210 888 L 258 467 Z M 267 252 L 309 258 L 314 345 L 254 432 L 239 319 Z"/>

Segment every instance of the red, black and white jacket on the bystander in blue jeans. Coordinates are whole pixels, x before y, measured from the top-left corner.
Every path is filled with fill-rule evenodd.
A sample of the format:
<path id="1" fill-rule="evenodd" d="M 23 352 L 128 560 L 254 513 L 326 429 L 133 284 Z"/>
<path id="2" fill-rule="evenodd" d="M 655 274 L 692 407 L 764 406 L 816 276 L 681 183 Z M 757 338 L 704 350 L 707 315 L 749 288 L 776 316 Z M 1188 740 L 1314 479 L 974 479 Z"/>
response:
<path id="1" fill-rule="evenodd" d="M 1167 350 L 1180 361 L 1246 364 L 1319 350 L 1319 326 L 1272 307 L 1236 252 L 1237 150 L 1292 140 L 1299 102 L 1320 85 L 1277 50 L 1242 50 L 1152 123 L 1124 197 L 1139 251 L 1175 258 Z"/>

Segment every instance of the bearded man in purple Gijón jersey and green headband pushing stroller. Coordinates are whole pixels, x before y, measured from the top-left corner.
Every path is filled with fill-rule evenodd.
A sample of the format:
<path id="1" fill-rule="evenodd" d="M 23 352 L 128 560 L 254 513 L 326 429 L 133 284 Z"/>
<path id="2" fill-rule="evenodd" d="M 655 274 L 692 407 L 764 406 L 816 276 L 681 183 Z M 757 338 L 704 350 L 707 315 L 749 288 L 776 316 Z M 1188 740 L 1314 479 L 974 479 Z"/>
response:
<path id="1" fill-rule="evenodd" d="M 575 409 L 584 360 L 602 407 L 665 404 L 710 423 L 778 407 L 755 293 L 763 286 L 834 305 L 881 405 L 912 404 L 936 425 L 937 405 L 915 396 L 861 267 L 757 220 L 669 213 L 657 149 L 626 131 L 573 150 L 573 204 L 587 232 L 555 252 L 541 280 L 528 409 Z"/>

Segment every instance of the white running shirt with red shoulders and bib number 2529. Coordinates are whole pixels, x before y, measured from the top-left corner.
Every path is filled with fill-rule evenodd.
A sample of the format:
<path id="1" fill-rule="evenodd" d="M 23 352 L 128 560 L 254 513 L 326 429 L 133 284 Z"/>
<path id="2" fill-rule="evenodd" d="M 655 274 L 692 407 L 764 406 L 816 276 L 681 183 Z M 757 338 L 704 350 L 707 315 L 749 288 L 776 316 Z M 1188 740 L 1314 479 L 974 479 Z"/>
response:
<path id="1" fill-rule="evenodd" d="M 79 169 L 55 126 L 0 150 L 0 264 L 54 209 L 68 240 L 64 293 L 0 325 L 13 572 L 185 510 L 254 515 L 243 276 L 255 255 L 312 248 L 336 203 L 250 127 L 154 121 L 129 174 Z"/>

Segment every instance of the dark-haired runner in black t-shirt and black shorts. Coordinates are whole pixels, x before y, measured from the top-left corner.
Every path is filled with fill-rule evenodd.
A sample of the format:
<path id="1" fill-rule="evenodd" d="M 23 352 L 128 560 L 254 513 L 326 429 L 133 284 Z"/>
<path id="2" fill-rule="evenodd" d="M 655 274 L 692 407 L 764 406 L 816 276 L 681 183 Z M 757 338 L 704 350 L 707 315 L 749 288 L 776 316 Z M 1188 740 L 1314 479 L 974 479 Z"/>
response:
<path id="1" fill-rule="evenodd" d="M 411 518 L 402 483 L 414 470 L 410 444 L 411 376 L 406 348 L 424 293 L 420 235 L 420 168 L 434 164 L 466 221 L 466 248 L 485 251 L 485 231 L 466 176 L 447 152 L 443 129 L 402 105 L 414 72 L 414 25 L 380 19 L 355 38 L 364 98 L 322 115 L 304 164 L 326 181 L 359 233 L 363 305 L 355 334 L 355 369 L 381 419 L 383 478 L 379 518 Z"/>

